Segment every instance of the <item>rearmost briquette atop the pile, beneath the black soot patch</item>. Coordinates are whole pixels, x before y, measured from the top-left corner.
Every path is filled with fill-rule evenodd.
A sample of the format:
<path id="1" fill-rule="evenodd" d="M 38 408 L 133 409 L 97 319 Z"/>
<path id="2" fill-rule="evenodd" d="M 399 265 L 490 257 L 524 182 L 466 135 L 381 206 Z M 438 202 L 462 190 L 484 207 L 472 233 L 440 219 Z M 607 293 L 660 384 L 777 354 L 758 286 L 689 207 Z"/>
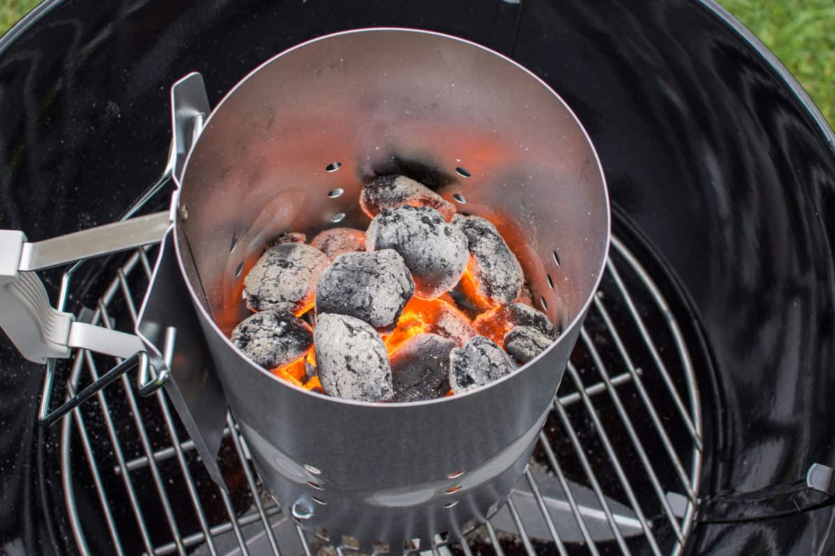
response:
<path id="1" fill-rule="evenodd" d="M 371 218 L 386 208 L 397 208 L 401 205 L 431 207 L 446 220 L 453 218 L 456 212 L 453 203 L 423 183 L 406 176 L 379 176 L 366 183 L 360 193 L 360 207 Z"/>

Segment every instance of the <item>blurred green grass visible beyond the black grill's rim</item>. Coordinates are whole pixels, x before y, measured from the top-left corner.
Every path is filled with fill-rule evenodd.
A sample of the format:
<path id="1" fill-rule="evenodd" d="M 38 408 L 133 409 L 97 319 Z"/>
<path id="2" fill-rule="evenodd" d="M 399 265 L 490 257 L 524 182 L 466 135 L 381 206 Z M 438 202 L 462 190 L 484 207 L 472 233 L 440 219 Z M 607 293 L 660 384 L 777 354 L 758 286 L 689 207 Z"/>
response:
<path id="1" fill-rule="evenodd" d="M 719 1 L 777 54 L 829 123 L 835 123 L 835 0 Z M 0 33 L 37 3 L 0 0 Z"/>

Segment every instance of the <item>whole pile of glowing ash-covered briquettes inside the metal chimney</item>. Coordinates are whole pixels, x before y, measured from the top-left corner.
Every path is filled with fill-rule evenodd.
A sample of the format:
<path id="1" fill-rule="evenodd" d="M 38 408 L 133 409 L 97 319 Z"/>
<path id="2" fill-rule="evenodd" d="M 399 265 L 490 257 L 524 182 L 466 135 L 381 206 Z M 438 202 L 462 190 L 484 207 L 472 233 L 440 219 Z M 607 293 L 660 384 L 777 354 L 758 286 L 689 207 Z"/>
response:
<path id="1" fill-rule="evenodd" d="M 230 339 L 253 363 L 335 398 L 415 402 L 487 386 L 559 335 L 493 223 L 401 175 L 366 183 L 359 205 L 366 232 L 282 233 L 247 271 L 256 315 Z"/>

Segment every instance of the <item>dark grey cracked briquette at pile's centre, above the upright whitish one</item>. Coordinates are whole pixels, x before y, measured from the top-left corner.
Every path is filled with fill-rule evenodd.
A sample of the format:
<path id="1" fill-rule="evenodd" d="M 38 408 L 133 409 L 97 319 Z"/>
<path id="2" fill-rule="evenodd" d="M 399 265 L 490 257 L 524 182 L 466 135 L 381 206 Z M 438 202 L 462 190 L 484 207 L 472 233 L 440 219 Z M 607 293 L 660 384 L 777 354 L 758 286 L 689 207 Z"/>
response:
<path id="1" fill-rule="evenodd" d="M 345 253 L 319 277 L 316 313 L 348 315 L 374 328 L 392 327 L 412 293 L 412 274 L 397 251 Z"/>

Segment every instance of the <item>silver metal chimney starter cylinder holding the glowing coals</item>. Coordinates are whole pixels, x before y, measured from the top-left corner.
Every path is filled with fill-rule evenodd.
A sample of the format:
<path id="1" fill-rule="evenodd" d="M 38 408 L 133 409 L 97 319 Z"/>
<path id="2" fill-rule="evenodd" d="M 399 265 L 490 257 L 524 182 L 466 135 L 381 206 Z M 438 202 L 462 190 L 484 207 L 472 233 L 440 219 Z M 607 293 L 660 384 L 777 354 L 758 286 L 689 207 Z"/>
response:
<path id="1" fill-rule="evenodd" d="M 244 358 L 227 336 L 246 314 L 242 281 L 266 240 L 364 229 L 363 180 L 393 172 L 496 223 L 560 338 L 488 388 L 423 403 L 329 398 Z M 281 506 L 367 553 L 411 539 L 426 546 L 493 513 L 524 472 L 609 243 L 600 163 L 554 91 L 508 58 L 439 33 L 317 38 L 221 101 L 181 191 L 181 268 L 230 408 Z"/>

